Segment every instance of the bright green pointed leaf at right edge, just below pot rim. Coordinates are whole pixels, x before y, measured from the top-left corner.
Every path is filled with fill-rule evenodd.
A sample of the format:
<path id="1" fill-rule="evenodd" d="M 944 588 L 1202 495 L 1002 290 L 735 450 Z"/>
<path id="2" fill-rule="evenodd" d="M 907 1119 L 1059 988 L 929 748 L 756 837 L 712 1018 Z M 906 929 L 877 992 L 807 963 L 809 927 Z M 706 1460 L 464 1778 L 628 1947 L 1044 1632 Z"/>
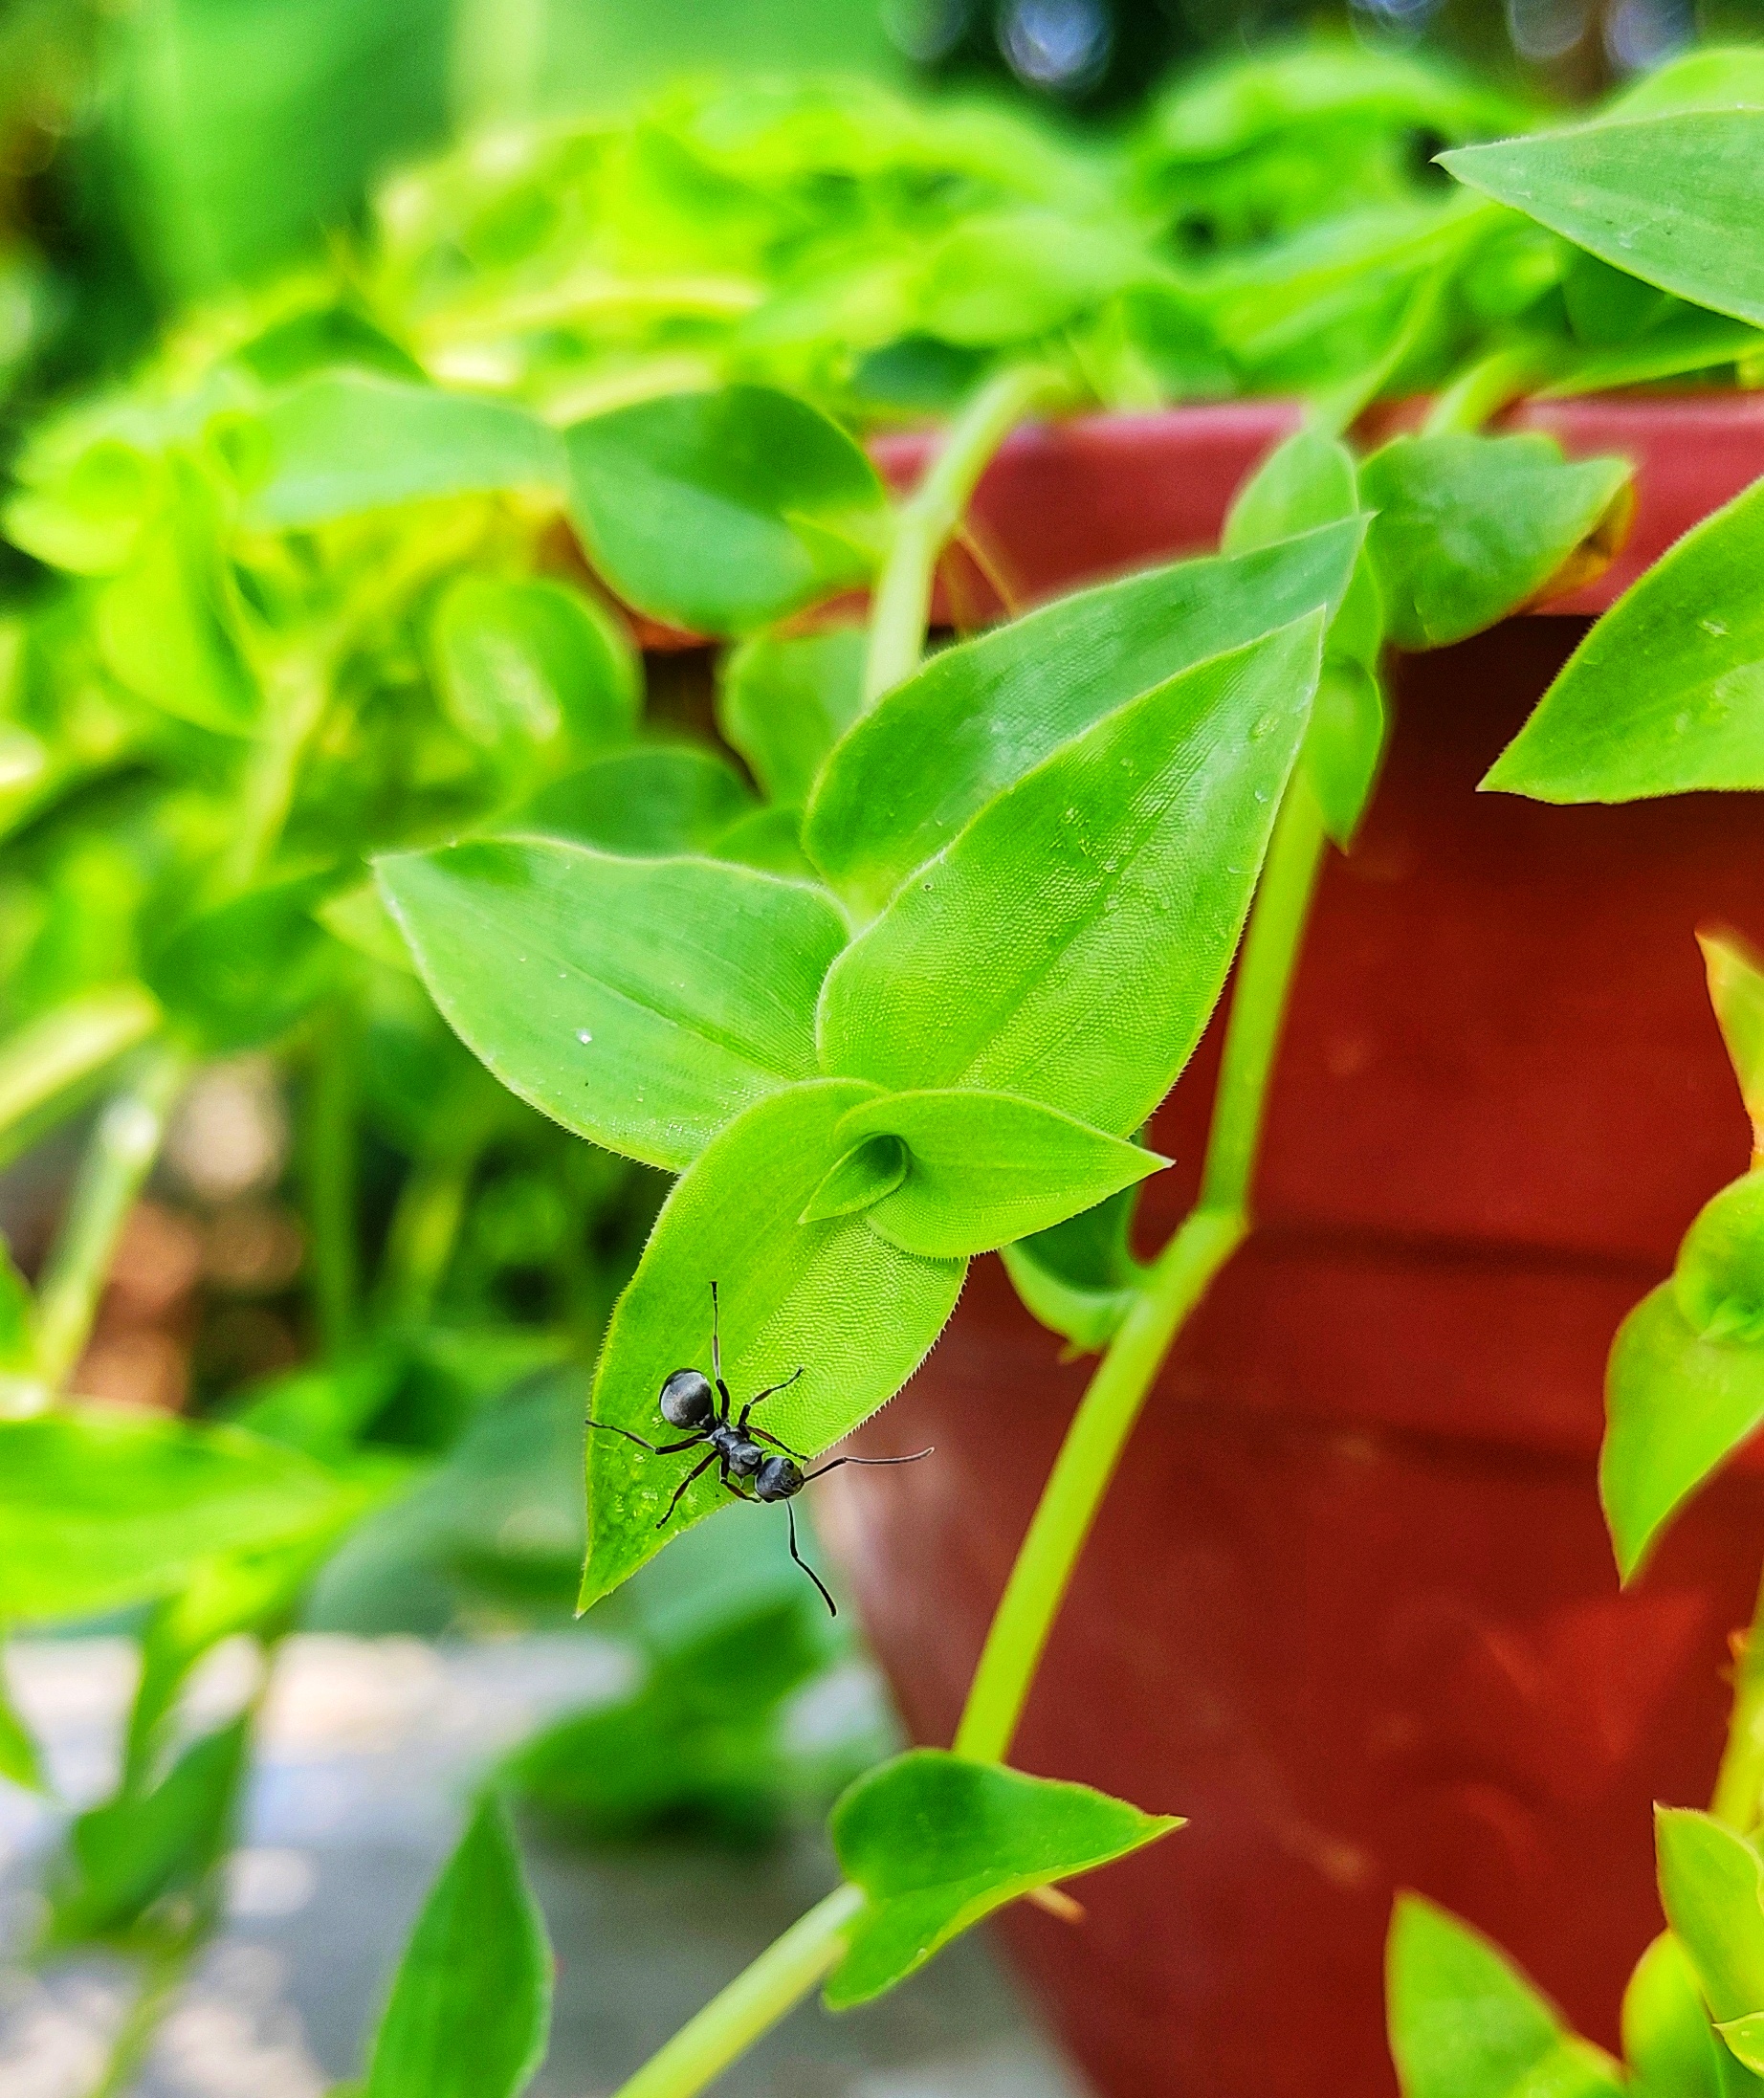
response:
<path id="1" fill-rule="evenodd" d="M 1623 592 L 1483 785 L 1533 801 L 1764 787 L 1760 566 L 1764 480 Z"/>

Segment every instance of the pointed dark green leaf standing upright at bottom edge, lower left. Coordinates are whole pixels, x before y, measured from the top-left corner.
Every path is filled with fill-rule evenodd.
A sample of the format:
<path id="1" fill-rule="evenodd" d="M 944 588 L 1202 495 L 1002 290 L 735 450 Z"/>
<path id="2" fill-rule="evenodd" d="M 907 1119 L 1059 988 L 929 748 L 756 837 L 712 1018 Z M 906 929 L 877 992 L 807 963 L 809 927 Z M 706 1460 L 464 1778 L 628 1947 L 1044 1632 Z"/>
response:
<path id="1" fill-rule="evenodd" d="M 485 1800 L 405 1947 L 365 2098 L 516 2098 L 545 2058 L 550 2025 L 545 1920 L 505 1811 Z"/>

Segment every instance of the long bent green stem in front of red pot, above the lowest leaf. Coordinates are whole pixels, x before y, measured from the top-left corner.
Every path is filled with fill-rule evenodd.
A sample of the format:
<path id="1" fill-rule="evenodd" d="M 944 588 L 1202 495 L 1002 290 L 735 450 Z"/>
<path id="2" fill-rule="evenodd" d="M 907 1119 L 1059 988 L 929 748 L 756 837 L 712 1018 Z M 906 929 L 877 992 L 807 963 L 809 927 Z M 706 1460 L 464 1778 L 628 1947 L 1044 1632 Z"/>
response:
<path id="1" fill-rule="evenodd" d="M 1248 1187 L 1286 994 L 1324 854 L 1317 804 L 1294 778 L 1256 890 L 1200 1202 L 1164 1246 L 1091 1378 L 1011 1567 L 956 1727 L 961 1756 L 1003 1760 L 1103 1494 L 1170 1343 L 1250 1229 Z"/>

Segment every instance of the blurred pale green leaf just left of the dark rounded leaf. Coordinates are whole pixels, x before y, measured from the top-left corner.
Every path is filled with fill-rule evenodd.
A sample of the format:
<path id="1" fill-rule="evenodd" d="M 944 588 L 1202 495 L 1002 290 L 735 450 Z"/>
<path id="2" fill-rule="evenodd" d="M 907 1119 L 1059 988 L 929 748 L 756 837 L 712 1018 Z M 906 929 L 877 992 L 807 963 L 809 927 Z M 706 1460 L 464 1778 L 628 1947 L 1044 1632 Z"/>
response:
<path id="1" fill-rule="evenodd" d="M 558 434 L 512 401 L 334 371 L 262 415 L 245 522 L 296 531 L 438 495 L 562 491 Z"/>

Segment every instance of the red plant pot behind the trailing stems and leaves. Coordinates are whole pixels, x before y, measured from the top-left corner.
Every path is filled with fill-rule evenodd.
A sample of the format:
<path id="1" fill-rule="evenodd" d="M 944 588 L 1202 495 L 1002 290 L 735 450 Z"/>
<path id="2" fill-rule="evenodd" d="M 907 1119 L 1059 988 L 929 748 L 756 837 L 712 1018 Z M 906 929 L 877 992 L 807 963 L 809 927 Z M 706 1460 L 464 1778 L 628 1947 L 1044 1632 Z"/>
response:
<path id="1" fill-rule="evenodd" d="M 1261 432 L 1210 480 L 1168 434 L 1156 472 L 1122 445 L 1095 560 L 1068 541 L 1032 566 L 1042 529 L 1114 514 L 1105 474 L 1047 476 L 1028 516 L 1001 497 L 1066 432 L 1017 441 L 982 524 L 1034 594 L 1164 552 L 1128 510 L 1179 487 L 1217 522 L 1273 420 L 1229 415 Z M 1764 470 L 1764 403 L 1548 415 L 1575 451 L 1626 424 L 1651 552 Z M 1615 2046 L 1659 1928 L 1649 1806 L 1714 1779 L 1764 1483 L 1712 1487 L 1619 1594 L 1594 1462 L 1619 1318 L 1747 1162 L 1691 934 L 1764 934 L 1758 804 L 1479 795 L 1582 631 L 1514 621 L 1403 665 L 1378 801 L 1298 971 L 1256 1236 L 1158 1380 L 1013 1752 L 1191 1817 L 1082 1882 L 1082 1924 L 1007 1920 L 1114 2098 L 1389 2092 L 1399 1886 Z M 1214 1059 L 1210 1039 L 1158 1118 L 1179 1166 L 1149 1183 L 1154 1238 L 1193 1190 Z M 1084 1376 L 984 1261 L 864 1437 L 938 1460 L 829 1481 L 829 1544 L 921 1741 L 952 1735 Z"/>

